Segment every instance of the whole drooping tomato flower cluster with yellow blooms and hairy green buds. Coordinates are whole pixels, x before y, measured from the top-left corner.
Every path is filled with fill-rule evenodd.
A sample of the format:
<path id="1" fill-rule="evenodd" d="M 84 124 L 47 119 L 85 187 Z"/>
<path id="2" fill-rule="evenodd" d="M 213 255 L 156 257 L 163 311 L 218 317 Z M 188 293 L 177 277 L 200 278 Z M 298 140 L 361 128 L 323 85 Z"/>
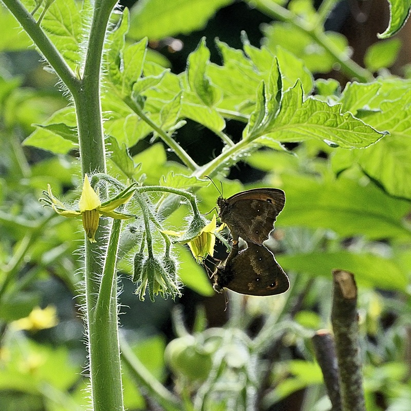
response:
<path id="1" fill-rule="evenodd" d="M 93 177 L 93 179 L 96 178 L 98 177 Z M 103 175 L 103 178 L 107 179 L 108 177 Z M 115 185 L 118 188 L 120 183 L 117 182 Z M 55 198 L 51 192 L 50 185 L 47 186 L 47 191 L 44 192 L 42 200 L 59 215 L 64 217 L 81 217 L 87 239 L 90 242 L 96 242 L 96 232 L 101 216 L 115 219 L 137 218 L 137 215 L 115 211 L 119 207 L 121 210 L 123 204 L 127 203 L 135 195 L 136 203 L 143 217 L 144 230 L 140 231 L 140 238 L 138 238 L 141 241 L 140 250 L 134 256 L 133 281 L 137 285 L 136 293 L 140 296 L 141 300 L 144 299 L 146 289 L 148 288 L 150 298 L 154 301 L 154 296 L 158 294 L 163 297 L 171 295 L 173 298 L 181 295 L 177 276 L 177 261 L 171 252 L 172 244 L 174 242 L 188 244 L 197 263 L 203 264 L 204 259 L 208 255 L 214 255 L 215 238 L 218 236 L 221 239 L 218 232 L 223 226 L 217 228 L 215 215 L 209 221 L 199 213 L 196 199 L 191 193 L 169 188 L 168 190 L 171 192 L 176 193 L 178 191 L 176 194 L 186 196 L 189 199 L 193 210 L 193 218 L 188 228 L 183 232 L 164 230 L 159 216 L 153 211 L 153 205 L 144 194 L 150 190 L 167 191 L 167 188 L 159 186 L 140 187 L 137 183 L 133 183 L 115 197 L 102 202 L 99 190 L 95 191 L 92 188 L 88 176 L 85 174 L 77 208 L 70 208 Z M 163 238 L 164 252 L 161 256 L 158 252 L 154 251 L 154 238 L 151 233 L 154 228 Z"/>

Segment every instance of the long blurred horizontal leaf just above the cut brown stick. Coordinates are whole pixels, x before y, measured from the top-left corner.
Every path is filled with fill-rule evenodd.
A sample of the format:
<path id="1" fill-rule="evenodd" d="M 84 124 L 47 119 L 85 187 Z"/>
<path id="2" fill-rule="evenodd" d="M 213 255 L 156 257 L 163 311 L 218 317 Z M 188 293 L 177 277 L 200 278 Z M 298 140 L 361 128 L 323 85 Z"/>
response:
<path id="1" fill-rule="evenodd" d="M 407 275 L 394 260 L 374 254 L 354 254 L 349 251 L 314 252 L 308 254 L 276 255 L 278 264 L 287 272 L 311 276 L 322 275 L 332 280 L 332 270 L 346 270 L 354 274 L 364 287 L 405 291 Z"/>

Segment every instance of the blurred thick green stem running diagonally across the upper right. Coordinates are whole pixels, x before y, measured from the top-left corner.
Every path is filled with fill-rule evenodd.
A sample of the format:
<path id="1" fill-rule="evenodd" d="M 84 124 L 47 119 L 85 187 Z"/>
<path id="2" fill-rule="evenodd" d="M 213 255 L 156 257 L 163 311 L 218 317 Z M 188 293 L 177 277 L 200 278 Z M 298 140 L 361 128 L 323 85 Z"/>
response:
<path id="1" fill-rule="evenodd" d="M 341 65 L 341 70 L 346 74 L 346 76 L 349 76 L 350 78 L 357 78 L 363 83 L 373 80 L 372 73 L 348 58 L 345 52 L 338 49 L 338 47 L 336 47 L 327 38 L 322 29 L 320 30 L 319 28 L 312 27 L 307 22 L 302 20 L 302 18 L 298 17 L 284 7 L 279 6 L 272 0 L 246 1 L 250 5 L 257 7 L 261 12 L 267 14 L 268 16 L 276 18 L 279 21 L 289 23 L 297 29 L 304 31 L 314 42 L 324 47 L 324 49 L 332 55 L 335 62 Z"/>

